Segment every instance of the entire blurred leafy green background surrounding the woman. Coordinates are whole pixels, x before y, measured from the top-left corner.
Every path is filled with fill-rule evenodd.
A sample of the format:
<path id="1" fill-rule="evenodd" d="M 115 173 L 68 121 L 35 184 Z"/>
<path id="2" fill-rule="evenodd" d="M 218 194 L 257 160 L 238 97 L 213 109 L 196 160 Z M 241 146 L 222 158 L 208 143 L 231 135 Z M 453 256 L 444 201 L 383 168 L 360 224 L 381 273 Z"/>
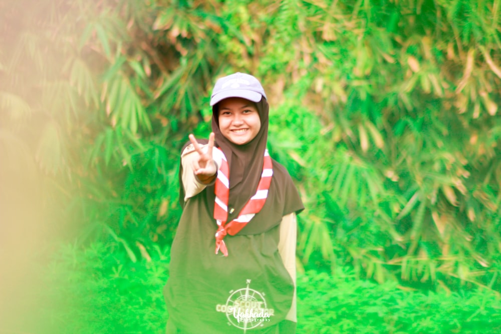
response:
<path id="1" fill-rule="evenodd" d="M 258 77 L 298 333 L 501 331 L 500 0 L 0 1 L 0 333 L 161 333 L 180 147 Z"/>

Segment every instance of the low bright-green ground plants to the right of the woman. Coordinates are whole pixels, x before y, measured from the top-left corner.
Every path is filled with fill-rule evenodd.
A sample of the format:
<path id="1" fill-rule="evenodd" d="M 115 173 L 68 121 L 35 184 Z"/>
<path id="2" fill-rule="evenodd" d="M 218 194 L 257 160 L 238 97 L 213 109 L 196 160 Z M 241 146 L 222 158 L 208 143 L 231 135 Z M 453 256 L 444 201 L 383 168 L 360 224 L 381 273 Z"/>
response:
<path id="1" fill-rule="evenodd" d="M 300 333 L 496 333 L 499 297 L 492 291 L 426 293 L 395 282 L 358 280 L 339 267 L 298 281 Z"/>

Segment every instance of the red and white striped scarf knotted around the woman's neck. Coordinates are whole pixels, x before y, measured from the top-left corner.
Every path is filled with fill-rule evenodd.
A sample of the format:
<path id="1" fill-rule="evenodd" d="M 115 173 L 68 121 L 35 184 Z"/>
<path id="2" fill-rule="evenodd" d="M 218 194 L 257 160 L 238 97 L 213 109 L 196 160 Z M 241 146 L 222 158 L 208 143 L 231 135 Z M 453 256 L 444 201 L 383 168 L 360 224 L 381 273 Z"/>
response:
<path id="1" fill-rule="evenodd" d="M 214 201 L 214 219 L 218 226 L 216 232 L 216 254 L 220 249 L 224 256 L 228 256 L 228 250 L 224 244 L 223 238 L 226 234 L 235 235 L 238 233 L 256 213 L 261 211 L 268 197 L 268 189 L 270 189 L 270 184 L 272 183 L 272 175 L 272 158 L 268 154 L 268 150 L 265 150 L 263 172 L 261 173 L 261 179 L 259 180 L 256 194 L 250 197 L 238 214 L 238 218 L 226 222 L 228 219 L 229 201 L 229 166 L 224 153 L 222 154 L 221 167 L 217 172 L 214 186 L 214 193 L 216 195 Z"/>

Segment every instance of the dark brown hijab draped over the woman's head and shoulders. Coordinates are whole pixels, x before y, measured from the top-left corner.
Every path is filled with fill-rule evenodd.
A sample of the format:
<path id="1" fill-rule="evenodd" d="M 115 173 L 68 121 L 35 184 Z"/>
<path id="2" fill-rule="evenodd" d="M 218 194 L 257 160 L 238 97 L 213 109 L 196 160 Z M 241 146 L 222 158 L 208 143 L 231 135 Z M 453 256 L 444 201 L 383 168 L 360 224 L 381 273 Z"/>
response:
<path id="1" fill-rule="evenodd" d="M 211 126 L 215 135 L 215 146 L 224 153 L 229 165 L 228 208 L 234 210 L 232 213 L 228 212 L 228 221 L 236 218 L 249 198 L 256 193 L 261 179 L 264 153 L 268 141 L 269 105 L 264 96 L 255 105 L 258 109 L 261 128 L 256 137 L 244 145 L 234 144 L 222 135 L 218 122 L 218 104 L 212 106 Z M 207 143 L 206 140 L 198 140 L 198 142 Z M 179 195 L 182 204 L 184 201 L 182 185 Z M 206 201 L 211 215 L 214 209 L 214 199 L 214 186 L 209 185 L 206 187 Z M 300 212 L 303 209 L 303 203 L 289 173 L 281 164 L 273 160 L 272 184 L 266 203 L 239 234 L 256 234 L 267 231 L 279 224 L 283 216 L 292 212 Z"/>

